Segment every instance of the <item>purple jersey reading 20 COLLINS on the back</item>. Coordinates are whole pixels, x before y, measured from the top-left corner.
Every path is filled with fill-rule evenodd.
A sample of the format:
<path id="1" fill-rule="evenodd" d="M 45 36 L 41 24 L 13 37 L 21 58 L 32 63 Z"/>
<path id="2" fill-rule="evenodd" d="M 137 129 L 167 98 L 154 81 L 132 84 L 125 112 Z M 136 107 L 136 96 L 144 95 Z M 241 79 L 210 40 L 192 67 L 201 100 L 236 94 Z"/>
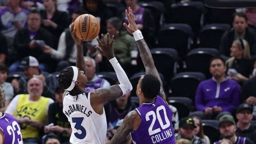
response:
<path id="1" fill-rule="evenodd" d="M 142 103 L 135 111 L 141 118 L 138 129 L 131 131 L 135 144 L 175 144 L 173 113 L 160 96 L 153 102 Z"/>

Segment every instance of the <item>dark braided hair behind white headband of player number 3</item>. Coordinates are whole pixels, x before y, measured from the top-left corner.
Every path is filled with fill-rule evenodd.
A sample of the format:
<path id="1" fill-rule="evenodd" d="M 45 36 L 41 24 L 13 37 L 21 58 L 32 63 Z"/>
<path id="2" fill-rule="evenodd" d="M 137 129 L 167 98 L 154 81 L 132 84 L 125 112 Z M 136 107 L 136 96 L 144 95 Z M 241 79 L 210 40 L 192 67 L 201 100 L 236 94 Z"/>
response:
<path id="1" fill-rule="evenodd" d="M 64 68 L 58 76 L 59 87 L 61 89 L 67 89 L 71 84 L 73 75 L 74 75 L 74 72 L 71 66 Z"/>

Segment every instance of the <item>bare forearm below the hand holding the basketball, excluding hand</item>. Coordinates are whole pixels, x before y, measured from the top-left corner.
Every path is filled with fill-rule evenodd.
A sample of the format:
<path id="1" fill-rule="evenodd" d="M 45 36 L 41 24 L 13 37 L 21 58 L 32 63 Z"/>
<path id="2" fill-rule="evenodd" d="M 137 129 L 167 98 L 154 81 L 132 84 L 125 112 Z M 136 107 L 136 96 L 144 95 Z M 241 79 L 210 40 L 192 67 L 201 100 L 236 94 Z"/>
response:
<path id="1" fill-rule="evenodd" d="M 84 74 L 87 76 L 86 68 L 85 68 L 85 62 L 83 59 L 83 51 L 82 46 L 76 46 L 77 52 L 76 52 L 76 67 L 78 67 L 80 70 L 84 72 Z"/>

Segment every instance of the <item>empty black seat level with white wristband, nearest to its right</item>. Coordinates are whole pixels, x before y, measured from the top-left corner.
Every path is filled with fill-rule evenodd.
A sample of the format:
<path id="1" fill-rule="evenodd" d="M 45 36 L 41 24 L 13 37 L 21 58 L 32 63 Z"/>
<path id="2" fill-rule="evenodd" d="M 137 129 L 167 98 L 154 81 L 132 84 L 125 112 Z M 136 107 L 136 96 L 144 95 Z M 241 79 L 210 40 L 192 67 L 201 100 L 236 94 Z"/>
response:
<path id="1" fill-rule="evenodd" d="M 192 35 L 192 29 L 187 24 L 167 24 L 158 31 L 158 46 L 174 48 L 184 58 L 190 49 Z"/>

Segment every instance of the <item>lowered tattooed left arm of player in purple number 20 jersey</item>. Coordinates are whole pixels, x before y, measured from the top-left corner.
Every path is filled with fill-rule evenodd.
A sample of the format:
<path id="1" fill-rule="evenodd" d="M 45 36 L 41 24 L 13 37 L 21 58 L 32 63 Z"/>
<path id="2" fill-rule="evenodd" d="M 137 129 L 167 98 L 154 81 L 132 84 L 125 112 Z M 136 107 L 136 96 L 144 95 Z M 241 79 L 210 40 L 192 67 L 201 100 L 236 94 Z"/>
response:
<path id="1" fill-rule="evenodd" d="M 110 140 L 109 144 L 120 144 L 125 138 L 130 134 L 130 131 L 133 129 L 135 118 L 138 116 L 135 111 L 129 112 L 124 120 L 122 125 L 117 129 L 116 134 Z"/>

